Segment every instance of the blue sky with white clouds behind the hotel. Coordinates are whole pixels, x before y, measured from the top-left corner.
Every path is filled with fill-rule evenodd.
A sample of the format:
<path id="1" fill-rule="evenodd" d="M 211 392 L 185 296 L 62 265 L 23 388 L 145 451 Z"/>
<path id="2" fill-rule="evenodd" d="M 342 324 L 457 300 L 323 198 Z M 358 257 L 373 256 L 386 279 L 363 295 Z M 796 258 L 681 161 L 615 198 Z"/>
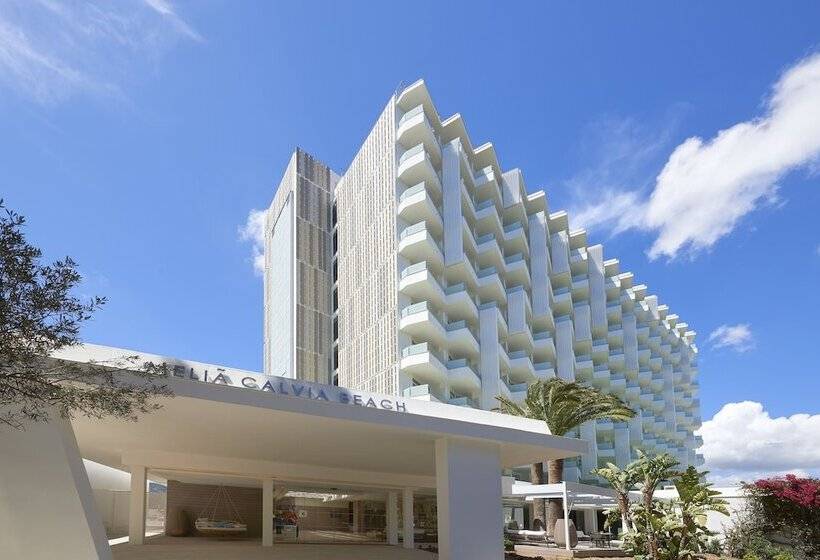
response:
<path id="1" fill-rule="evenodd" d="M 86 340 L 261 369 L 240 228 L 294 146 L 343 171 L 424 78 L 698 331 L 704 420 L 740 403 L 711 441 L 798 434 L 807 454 L 759 470 L 814 472 L 817 21 L 812 2 L 7 0 L 0 196 L 108 296 Z"/>

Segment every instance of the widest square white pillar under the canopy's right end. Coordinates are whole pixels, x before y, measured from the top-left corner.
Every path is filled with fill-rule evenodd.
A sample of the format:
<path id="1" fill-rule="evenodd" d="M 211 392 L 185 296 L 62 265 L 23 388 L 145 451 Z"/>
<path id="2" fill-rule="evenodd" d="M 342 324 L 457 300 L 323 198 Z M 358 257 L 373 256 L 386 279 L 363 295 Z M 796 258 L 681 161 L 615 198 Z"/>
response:
<path id="1" fill-rule="evenodd" d="M 500 472 L 496 444 L 436 441 L 439 560 L 503 558 Z"/>

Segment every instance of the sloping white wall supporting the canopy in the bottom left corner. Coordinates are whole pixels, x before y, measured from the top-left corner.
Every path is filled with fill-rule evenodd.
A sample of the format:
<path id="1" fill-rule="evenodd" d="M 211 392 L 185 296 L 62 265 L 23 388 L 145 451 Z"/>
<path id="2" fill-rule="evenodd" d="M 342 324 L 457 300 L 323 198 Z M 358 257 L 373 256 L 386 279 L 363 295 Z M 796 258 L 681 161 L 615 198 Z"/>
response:
<path id="1" fill-rule="evenodd" d="M 110 560 L 71 423 L 0 428 L 0 558 Z"/>

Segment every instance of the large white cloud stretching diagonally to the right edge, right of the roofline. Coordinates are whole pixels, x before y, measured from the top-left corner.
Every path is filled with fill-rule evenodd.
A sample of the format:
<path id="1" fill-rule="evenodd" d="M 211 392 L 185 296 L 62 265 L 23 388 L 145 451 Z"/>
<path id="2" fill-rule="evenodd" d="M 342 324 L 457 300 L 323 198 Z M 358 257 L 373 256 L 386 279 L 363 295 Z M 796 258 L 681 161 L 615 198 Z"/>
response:
<path id="1" fill-rule="evenodd" d="M 616 233 L 652 232 L 650 259 L 696 254 L 747 214 L 777 203 L 778 181 L 796 169 L 816 169 L 818 158 L 820 53 L 783 73 L 761 115 L 712 138 L 688 138 L 672 151 L 654 186 L 611 193 L 581 209 L 582 218 Z"/>

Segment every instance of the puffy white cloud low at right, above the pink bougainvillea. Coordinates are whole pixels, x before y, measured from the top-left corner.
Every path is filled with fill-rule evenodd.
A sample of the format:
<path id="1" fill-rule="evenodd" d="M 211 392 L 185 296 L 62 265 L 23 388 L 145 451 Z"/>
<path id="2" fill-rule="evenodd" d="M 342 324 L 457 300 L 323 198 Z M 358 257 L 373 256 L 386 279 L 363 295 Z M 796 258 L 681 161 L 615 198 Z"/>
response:
<path id="1" fill-rule="evenodd" d="M 728 403 L 698 433 L 715 481 L 820 470 L 820 414 L 772 418 L 758 402 Z"/>

